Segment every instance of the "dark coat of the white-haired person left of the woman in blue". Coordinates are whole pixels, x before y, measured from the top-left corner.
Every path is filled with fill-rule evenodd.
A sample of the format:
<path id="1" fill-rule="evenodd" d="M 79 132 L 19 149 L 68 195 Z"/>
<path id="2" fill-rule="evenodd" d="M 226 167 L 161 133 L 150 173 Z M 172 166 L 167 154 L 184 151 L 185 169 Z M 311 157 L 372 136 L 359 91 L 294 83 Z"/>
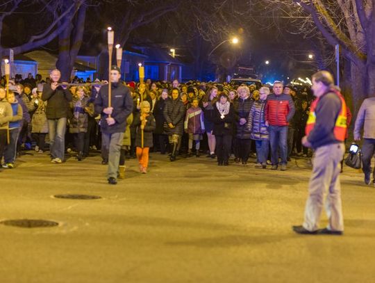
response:
<path id="1" fill-rule="evenodd" d="M 249 113 L 251 111 L 251 106 L 253 106 L 253 100 L 248 97 L 247 99 L 238 98 L 235 100 L 235 126 L 236 126 L 236 138 L 251 138 L 251 131 L 247 127 L 247 122 L 249 121 Z M 240 119 L 244 118 L 246 123 L 240 124 Z"/>

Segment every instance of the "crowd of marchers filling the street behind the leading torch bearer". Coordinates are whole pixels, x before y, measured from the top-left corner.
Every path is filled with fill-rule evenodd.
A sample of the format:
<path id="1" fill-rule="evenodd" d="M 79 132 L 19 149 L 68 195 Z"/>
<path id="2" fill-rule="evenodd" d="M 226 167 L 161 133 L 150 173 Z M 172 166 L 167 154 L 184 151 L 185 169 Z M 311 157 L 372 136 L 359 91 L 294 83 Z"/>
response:
<path id="1" fill-rule="evenodd" d="M 80 81 L 74 78 L 72 82 Z M 122 140 L 122 168 L 126 159 L 136 158 L 138 147 L 166 154 L 170 161 L 204 155 L 224 166 L 232 162 L 247 165 L 249 156 L 254 156 L 256 168 L 272 170 L 287 170 L 291 156 L 313 154 L 301 143 L 314 100 L 308 86 L 290 86 L 281 81 L 259 87 L 150 79 L 122 84 L 133 99 Z M 51 143 L 52 163 L 63 163 L 65 156 L 83 161 L 90 151 L 99 150 L 102 163 L 108 163 L 108 149 L 101 140 L 101 113 L 95 111 L 99 83 L 63 88 L 53 86 L 51 78 L 44 80 L 37 74 L 34 79 L 29 74 L 26 79 L 17 75 L 10 80 L 8 94 L 5 78 L 1 78 L 0 85 L 2 168 L 14 168 L 17 156 L 26 150 L 40 154 L 52 150 Z M 51 99 L 55 92 L 59 95 Z M 349 125 L 351 113 L 347 109 Z M 148 117 L 149 124 L 142 122 L 144 117 Z M 363 102 L 354 138 L 364 140 L 363 170 L 369 184 L 375 149 L 374 97 Z M 147 166 L 148 159 L 140 159 L 140 172 L 146 173 Z"/>

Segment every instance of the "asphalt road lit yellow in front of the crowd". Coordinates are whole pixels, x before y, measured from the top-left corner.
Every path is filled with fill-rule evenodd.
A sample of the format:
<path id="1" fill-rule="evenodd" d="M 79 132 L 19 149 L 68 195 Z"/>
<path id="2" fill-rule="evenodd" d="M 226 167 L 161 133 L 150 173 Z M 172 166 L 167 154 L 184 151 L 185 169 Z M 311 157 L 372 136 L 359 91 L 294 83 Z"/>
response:
<path id="1" fill-rule="evenodd" d="M 358 170 L 341 176 L 344 235 L 301 236 L 291 226 L 303 220 L 304 159 L 281 172 L 151 154 L 147 175 L 127 161 L 117 186 L 100 160 L 34 154 L 0 172 L 0 220 L 59 223 L 0 225 L 1 283 L 375 282 L 375 188 Z"/>

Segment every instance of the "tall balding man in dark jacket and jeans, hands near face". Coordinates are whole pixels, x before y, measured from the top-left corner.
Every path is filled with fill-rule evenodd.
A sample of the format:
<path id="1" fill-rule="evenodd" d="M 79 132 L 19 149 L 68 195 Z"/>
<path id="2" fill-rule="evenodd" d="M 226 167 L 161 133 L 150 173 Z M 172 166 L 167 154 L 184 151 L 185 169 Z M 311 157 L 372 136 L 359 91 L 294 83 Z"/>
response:
<path id="1" fill-rule="evenodd" d="M 43 86 L 42 100 L 47 102 L 51 162 L 62 163 L 65 153 L 68 102 L 72 101 L 72 93 L 67 90 L 67 86 L 59 86 L 58 81 L 61 77 L 59 70 L 52 70 L 49 76 L 51 84 L 47 83 Z"/>

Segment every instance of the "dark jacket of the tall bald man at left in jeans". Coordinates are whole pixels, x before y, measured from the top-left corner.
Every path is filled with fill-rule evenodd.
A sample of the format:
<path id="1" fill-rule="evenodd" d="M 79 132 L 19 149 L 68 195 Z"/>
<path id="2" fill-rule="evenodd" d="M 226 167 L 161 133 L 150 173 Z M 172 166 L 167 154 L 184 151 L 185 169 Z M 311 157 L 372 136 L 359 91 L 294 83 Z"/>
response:
<path id="1" fill-rule="evenodd" d="M 58 86 L 52 90 L 51 84 L 46 83 L 43 86 L 42 100 L 47 103 L 47 119 L 67 118 L 68 102 L 72 101 L 72 93 Z"/>

